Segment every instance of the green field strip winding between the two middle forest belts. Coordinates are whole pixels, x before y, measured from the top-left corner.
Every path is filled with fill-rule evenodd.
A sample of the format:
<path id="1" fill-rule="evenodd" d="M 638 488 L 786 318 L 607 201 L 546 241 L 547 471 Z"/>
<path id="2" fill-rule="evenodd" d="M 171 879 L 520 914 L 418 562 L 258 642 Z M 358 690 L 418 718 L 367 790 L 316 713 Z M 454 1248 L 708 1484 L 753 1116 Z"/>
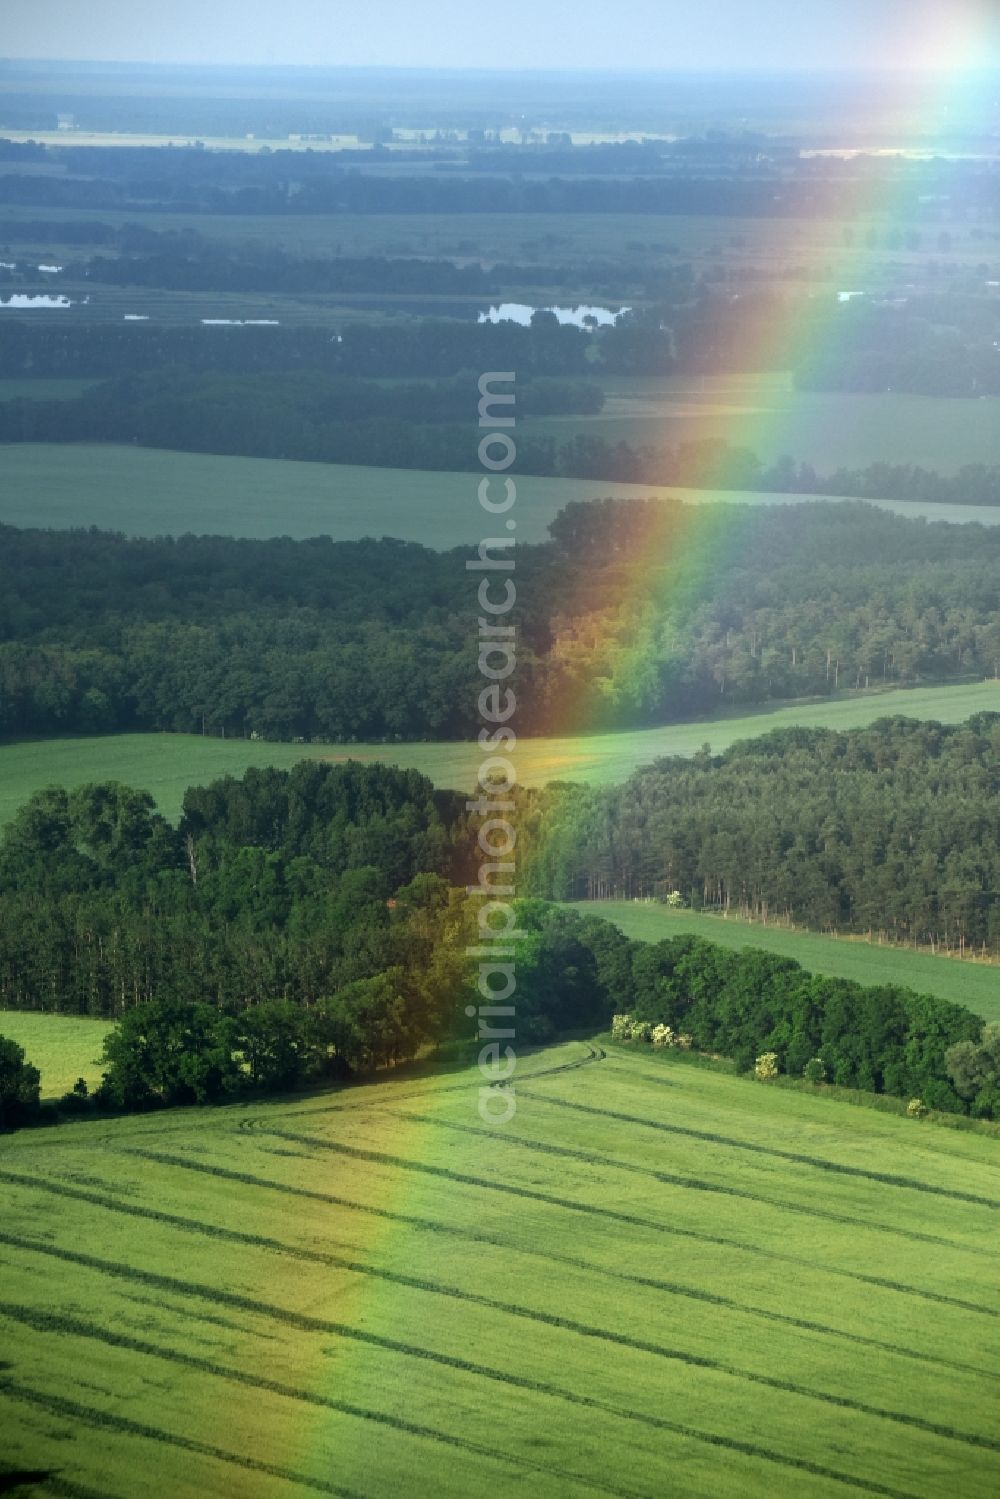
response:
<path id="1" fill-rule="evenodd" d="M 522 739 L 516 751 L 517 773 L 523 785 L 547 781 L 601 785 L 625 781 L 639 766 L 660 755 L 690 755 L 705 744 L 718 754 L 738 739 L 753 739 L 774 729 L 862 729 L 891 714 L 957 724 L 981 712 L 1000 712 L 999 682 L 861 693 L 663 729 Z M 463 790 L 475 784 L 481 757 L 477 745 L 454 741 L 297 745 L 154 733 L 27 741 L 0 745 L 0 823 L 9 821 L 43 785 L 123 781 L 151 791 L 159 808 L 177 817 L 189 785 L 204 785 L 220 775 L 243 775 L 249 766 L 286 767 L 307 758 L 381 760 L 421 770 L 436 785 Z"/>

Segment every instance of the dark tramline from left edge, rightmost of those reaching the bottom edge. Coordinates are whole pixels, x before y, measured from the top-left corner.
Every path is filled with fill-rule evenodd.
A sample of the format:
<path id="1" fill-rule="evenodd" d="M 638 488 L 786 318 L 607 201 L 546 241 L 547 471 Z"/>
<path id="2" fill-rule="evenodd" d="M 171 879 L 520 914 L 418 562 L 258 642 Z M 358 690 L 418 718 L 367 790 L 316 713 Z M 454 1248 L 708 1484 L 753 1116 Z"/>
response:
<path id="1" fill-rule="evenodd" d="M 855 1478 L 850 1474 L 843 1474 L 835 1468 L 826 1468 L 822 1463 L 813 1463 L 805 1457 L 793 1457 L 784 1453 L 775 1453 L 771 1448 L 760 1447 L 753 1442 L 744 1442 L 739 1438 L 723 1436 L 715 1432 L 702 1432 L 697 1427 L 687 1426 L 681 1421 L 670 1421 L 666 1417 L 646 1415 L 640 1411 L 630 1411 L 625 1406 L 618 1406 L 610 1400 L 600 1400 L 595 1396 L 580 1394 L 571 1390 L 562 1390 L 558 1385 L 550 1385 L 546 1381 L 528 1379 L 523 1375 L 504 1373 L 496 1369 L 489 1369 L 484 1364 L 474 1364 L 465 1358 L 456 1358 L 451 1354 L 436 1354 L 427 1348 L 420 1348 L 412 1343 L 403 1343 L 396 1339 L 382 1337 L 378 1333 L 369 1333 L 363 1328 L 348 1327 L 346 1324 L 333 1322 L 327 1318 L 309 1316 L 303 1312 L 291 1312 L 285 1307 L 270 1306 L 264 1301 L 256 1301 L 252 1297 L 241 1297 L 232 1291 L 222 1291 L 216 1286 L 198 1285 L 196 1282 L 177 1280 L 172 1276 L 160 1276 L 150 1270 L 138 1270 L 133 1265 L 123 1265 L 118 1261 L 97 1259 L 94 1255 L 84 1255 L 72 1249 L 60 1249 L 55 1244 L 43 1241 L 21 1240 L 12 1234 L 0 1232 L 0 1243 L 12 1244 L 16 1249 L 24 1249 L 39 1255 L 48 1255 L 54 1259 L 64 1261 L 66 1264 L 82 1265 L 87 1270 L 96 1270 L 100 1274 L 106 1274 L 118 1280 L 138 1280 L 139 1283 L 154 1286 L 159 1291 L 166 1291 L 186 1297 L 198 1297 L 208 1303 L 238 1307 L 253 1316 L 270 1318 L 286 1327 L 298 1328 L 306 1333 L 325 1333 L 334 1337 L 346 1337 L 357 1343 L 364 1343 L 369 1348 L 378 1348 L 385 1352 L 399 1354 L 411 1358 L 424 1358 L 433 1364 L 441 1364 L 445 1369 L 459 1370 L 462 1373 L 474 1375 L 483 1379 L 493 1381 L 496 1384 L 511 1385 L 517 1390 L 529 1391 L 531 1394 L 550 1396 L 555 1400 L 562 1400 L 568 1405 L 582 1406 L 588 1411 L 601 1411 L 607 1415 L 615 1417 L 619 1421 L 634 1421 L 639 1426 L 651 1427 L 657 1432 L 672 1432 L 676 1436 L 685 1436 L 691 1441 L 705 1442 L 709 1447 L 726 1448 L 732 1453 L 741 1453 L 745 1457 L 760 1459 L 762 1462 L 775 1463 L 781 1468 L 790 1468 L 798 1472 L 813 1474 L 819 1478 L 829 1478 L 832 1483 L 844 1484 L 849 1489 L 861 1490 L 862 1493 L 879 1495 L 883 1499 L 918 1499 L 906 1490 L 892 1489 L 886 1484 L 879 1484 L 864 1478 Z M 3 1388 L 3 1381 L 0 1381 L 0 1388 Z"/>

